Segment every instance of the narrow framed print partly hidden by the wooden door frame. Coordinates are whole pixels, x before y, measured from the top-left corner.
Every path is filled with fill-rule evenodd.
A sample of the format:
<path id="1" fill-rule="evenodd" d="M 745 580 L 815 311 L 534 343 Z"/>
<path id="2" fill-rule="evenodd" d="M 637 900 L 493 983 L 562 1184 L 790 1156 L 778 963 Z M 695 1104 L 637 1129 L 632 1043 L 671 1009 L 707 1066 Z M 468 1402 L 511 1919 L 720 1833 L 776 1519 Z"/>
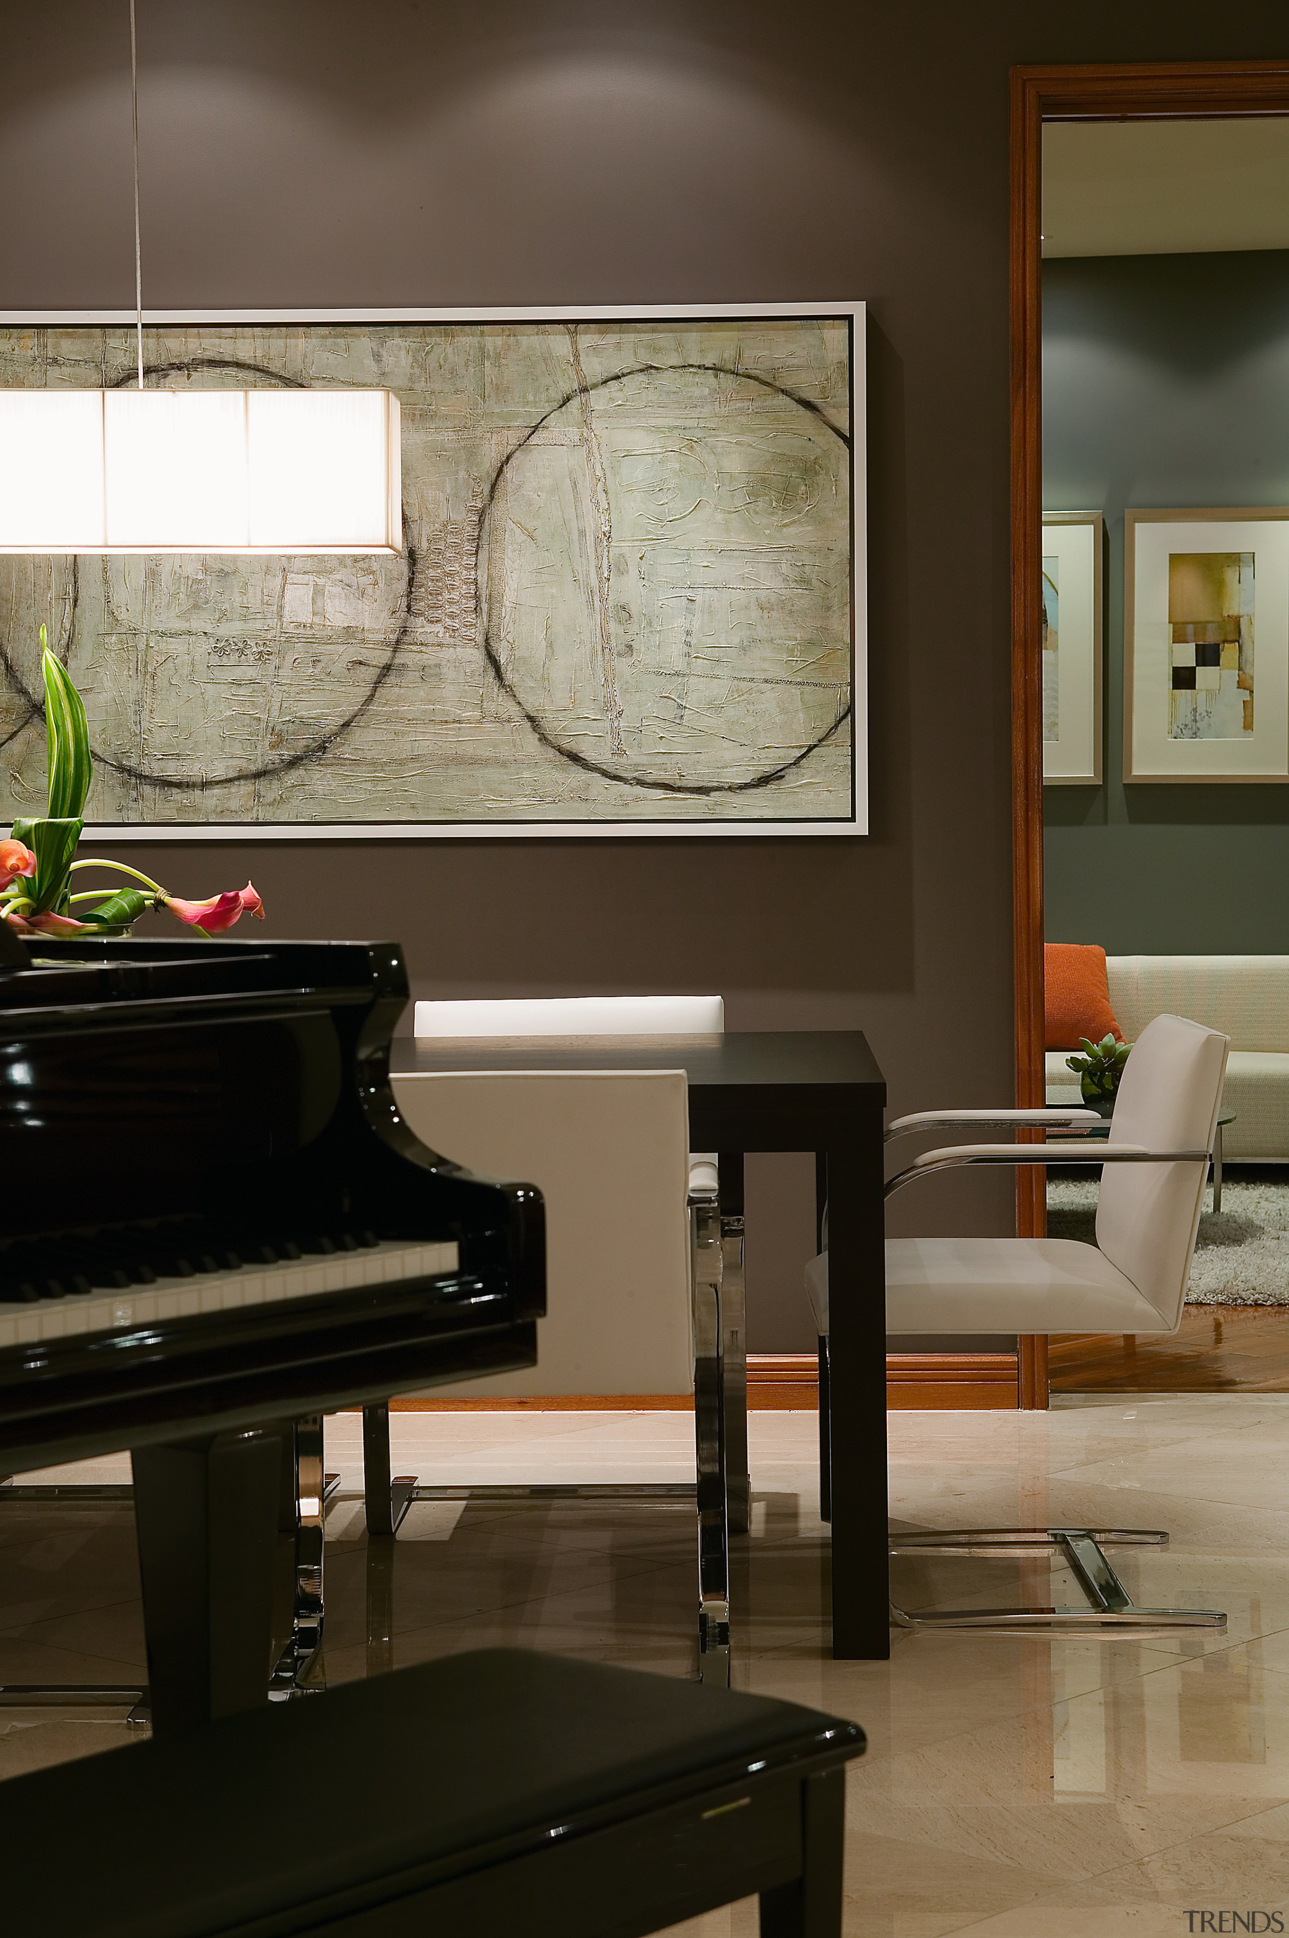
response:
<path id="1" fill-rule="evenodd" d="M 1043 514 L 1043 783 L 1101 783 L 1099 512 Z"/>

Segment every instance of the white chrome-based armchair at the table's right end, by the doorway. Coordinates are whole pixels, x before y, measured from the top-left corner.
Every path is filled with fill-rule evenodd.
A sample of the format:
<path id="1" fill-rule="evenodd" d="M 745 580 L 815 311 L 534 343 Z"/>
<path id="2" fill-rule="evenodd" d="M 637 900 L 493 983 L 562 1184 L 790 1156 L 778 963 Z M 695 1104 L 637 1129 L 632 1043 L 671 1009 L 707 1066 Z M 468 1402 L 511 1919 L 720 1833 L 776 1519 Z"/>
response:
<path id="1" fill-rule="evenodd" d="M 886 1186 L 973 1165 L 1105 1165 L 1097 1242 L 1070 1238 L 888 1238 L 890 1333 L 1175 1333 L 1200 1225 L 1208 1161 L 1217 1130 L 1229 1037 L 1180 1016 L 1157 1016 L 1124 1064 L 1105 1143 L 1072 1143 L 1082 1110 L 923 1110 L 896 1120 L 888 1141 L 915 1132 L 1041 1126 L 1053 1143 L 958 1143 L 923 1151 Z M 828 1250 L 806 1266 L 806 1297 L 828 1364 Z M 826 1457 L 826 1455 L 824 1455 Z M 907 1628 L 1225 1628 L 1211 1609 L 1136 1607 L 1101 1543 L 1167 1545 L 1161 1529 L 977 1527 L 899 1535 L 892 1554 L 927 1550 L 1023 1554 L 1064 1560 L 1087 1595 L 1082 1609 L 892 1610 Z"/>

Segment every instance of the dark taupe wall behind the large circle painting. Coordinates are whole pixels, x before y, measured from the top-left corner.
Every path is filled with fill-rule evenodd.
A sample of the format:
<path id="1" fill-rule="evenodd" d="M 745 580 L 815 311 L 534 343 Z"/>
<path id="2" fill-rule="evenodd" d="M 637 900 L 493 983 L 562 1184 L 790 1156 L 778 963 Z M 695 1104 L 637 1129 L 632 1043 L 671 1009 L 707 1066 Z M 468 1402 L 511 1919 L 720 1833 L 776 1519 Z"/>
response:
<path id="1" fill-rule="evenodd" d="M 4 308 L 132 302 L 126 0 L 6 4 Z M 1281 52 L 1194 0 L 140 0 L 149 304 L 870 302 L 872 835 L 167 847 L 421 992 L 717 988 L 1012 1093 L 1008 64 Z M 764 1167 L 762 1167 L 764 1174 Z M 801 1190 L 791 1217 L 801 1231 Z M 1002 1229 L 1008 1192 L 903 1217 Z M 804 1345 L 793 1273 L 754 1345 Z M 802 1337 L 804 1333 L 804 1337 Z"/>

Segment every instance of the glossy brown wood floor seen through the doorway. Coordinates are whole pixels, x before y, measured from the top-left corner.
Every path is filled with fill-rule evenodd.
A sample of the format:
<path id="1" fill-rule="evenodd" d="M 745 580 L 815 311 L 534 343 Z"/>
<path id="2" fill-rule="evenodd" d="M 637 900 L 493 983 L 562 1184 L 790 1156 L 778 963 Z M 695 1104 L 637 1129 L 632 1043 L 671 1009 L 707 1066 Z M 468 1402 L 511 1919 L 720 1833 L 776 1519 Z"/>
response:
<path id="1" fill-rule="evenodd" d="M 1173 1339 L 1053 1337 L 1053 1393 L 1289 1393 L 1289 1306 L 1186 1306 Z"/>

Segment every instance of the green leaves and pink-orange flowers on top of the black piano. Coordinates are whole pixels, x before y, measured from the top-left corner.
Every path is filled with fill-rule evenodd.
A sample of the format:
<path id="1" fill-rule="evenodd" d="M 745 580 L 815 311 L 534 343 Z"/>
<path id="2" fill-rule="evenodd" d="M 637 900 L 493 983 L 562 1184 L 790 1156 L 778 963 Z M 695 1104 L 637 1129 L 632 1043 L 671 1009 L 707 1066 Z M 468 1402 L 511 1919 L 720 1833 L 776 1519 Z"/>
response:
<path id="1" fill-rule="evenodd" d="M 169 909 L 198 936 L 233 928 L 242 915 L 264 921 L 264 903 L 248 882 L 205 901 L 184 901 L 138 868 L 118 860 L 76 859 L 85 797 L 93 779 L 85 707 L 68 669 L 50 653 L 41 626 L 45 727 L 48 738 L 48 812 L 16 820 L 0 841 L 0 915 L 19 936 L 124 936 L 147 909 Z M 138 888 L 76 888 L 81 868 L 109 868 Z M 93 907 L 91 907 L 93 905 Z M 79 907 L 79 915 L 72 909 Z"/>

